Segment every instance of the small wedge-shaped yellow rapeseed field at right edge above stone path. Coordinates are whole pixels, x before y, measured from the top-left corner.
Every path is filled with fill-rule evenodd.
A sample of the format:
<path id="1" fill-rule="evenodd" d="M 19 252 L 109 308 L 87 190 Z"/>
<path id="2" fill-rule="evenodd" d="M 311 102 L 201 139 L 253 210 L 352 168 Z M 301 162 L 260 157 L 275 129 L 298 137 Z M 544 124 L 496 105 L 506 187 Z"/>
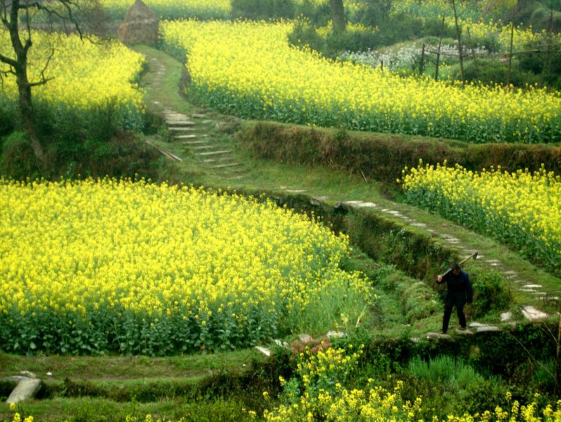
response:
<path id="1" fill-rule="evenodd" d="M 560 274 L 561 179 L 553 172 L 471 172 L 444 163 L 404 174 L 411 203 L 515 245 Z"/>

